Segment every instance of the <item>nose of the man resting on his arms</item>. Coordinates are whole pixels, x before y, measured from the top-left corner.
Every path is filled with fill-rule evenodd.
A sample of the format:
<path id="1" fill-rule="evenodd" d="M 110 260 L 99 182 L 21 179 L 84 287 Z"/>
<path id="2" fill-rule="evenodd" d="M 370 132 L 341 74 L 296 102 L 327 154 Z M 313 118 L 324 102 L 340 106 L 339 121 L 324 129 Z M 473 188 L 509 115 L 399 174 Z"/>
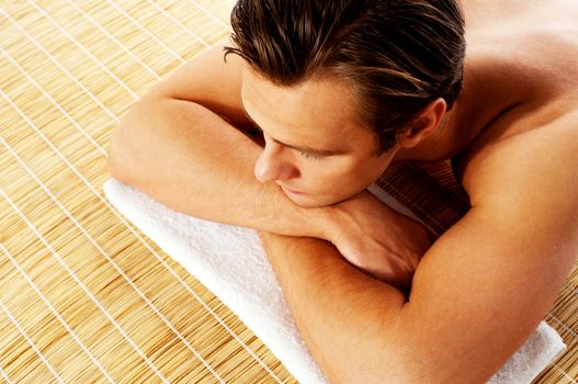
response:
<path id="1" fill-rule="evenodd" d="M 296 174 L 291 162 L 283 159 L 283 147 L 276 143 L 268 143 L 254 165 L 254 177 L 262 183 L 274 180 L 288 180 Z"/>

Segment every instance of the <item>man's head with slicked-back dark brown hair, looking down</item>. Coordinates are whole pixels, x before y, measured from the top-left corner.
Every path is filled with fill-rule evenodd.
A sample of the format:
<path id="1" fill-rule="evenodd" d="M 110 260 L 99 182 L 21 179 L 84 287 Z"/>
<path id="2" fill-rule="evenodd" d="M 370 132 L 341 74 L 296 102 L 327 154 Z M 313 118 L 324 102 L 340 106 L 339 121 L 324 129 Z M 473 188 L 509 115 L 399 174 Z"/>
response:
<path id="1" fill-rule="evenodd" d="M 366 188 L 439 125 L 461 89 L 456 0 L 240 0 L 231 13 L 242 102 L 267 146 L 261 181 L 301 205 Z M 405 138 L 408 138 L 405 140 Z M 283 144 L 340 154 L 307 157 Z"/>

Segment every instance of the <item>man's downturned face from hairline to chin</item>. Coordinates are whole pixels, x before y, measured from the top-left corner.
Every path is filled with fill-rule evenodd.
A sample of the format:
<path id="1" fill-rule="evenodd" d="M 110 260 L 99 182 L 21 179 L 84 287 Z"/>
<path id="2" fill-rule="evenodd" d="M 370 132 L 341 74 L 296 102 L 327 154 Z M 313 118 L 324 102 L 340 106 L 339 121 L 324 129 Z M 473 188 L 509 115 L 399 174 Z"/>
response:
<path id="1" fill-rule="evenodd" d="M 330 205 L 363 191 L 397 151 L 374 155 L 374 135 L 356 122 L 349 87 L 335 79 L 277 87 L 246 68 L 241 101 L 265 139 L 254 176 L 275 182 L 302 206 Z"/>

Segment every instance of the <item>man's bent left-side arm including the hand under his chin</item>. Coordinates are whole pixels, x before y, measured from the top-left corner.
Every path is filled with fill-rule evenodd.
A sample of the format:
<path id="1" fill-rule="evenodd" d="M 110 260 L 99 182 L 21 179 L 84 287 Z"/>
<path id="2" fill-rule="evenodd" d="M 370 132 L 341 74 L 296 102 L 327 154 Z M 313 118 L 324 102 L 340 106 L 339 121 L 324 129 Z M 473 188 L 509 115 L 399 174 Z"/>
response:
<path id="1" fill-rule="evenodd" d="M 109 169 L 172 210 L 212 222 L 331 241 L 354 266 L 407 285 L 429 246 L 426 229 L 369 192 L 302 207 L 253 167 L 262 148 L 243 129 L 241 59 L 215 48 L 179 68 L 133 105 L 114 131 Z M 398 234 L 394 238 L 389 233 Z M 360 256 L 363 256 L 361 258 Z M 394 282 L 393 280 L 390 280 Z"/>

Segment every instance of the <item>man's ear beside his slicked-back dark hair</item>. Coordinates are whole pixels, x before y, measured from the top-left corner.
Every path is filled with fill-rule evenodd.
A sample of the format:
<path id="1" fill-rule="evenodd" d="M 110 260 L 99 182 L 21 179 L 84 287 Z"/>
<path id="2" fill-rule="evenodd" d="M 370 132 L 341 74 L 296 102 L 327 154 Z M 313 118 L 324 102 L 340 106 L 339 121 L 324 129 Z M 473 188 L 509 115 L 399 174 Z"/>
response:
<path id="1" fill-rule="evenodd" d="M 445 100 L 442 98 L 432 101 L 423 112 L 416 117 L 413 123 L 411 123 L 411 126 L 399 136 L 399 146 L 404 148 L 415 147 L 426 137 L 435 132 L 445 114 L 446 108 Z"/>

